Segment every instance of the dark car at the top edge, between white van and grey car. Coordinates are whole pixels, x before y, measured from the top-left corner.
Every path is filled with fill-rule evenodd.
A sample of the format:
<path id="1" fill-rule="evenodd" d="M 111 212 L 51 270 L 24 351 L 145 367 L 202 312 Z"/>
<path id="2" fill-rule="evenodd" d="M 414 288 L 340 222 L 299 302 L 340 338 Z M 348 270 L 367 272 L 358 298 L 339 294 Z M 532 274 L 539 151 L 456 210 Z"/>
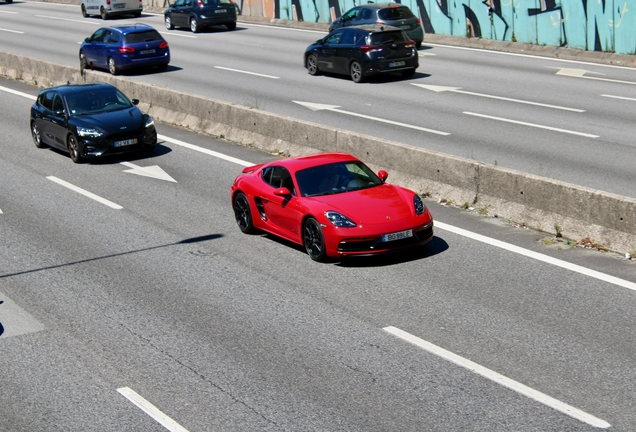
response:
<path id="1" fill-rule="evenodd" d="M 190 27 L 198 33 L 204 27 L 224 25 L 236 28 L 236 6 L 232 0 L 177 0 L 165 10 L 166 28 Z"/>

